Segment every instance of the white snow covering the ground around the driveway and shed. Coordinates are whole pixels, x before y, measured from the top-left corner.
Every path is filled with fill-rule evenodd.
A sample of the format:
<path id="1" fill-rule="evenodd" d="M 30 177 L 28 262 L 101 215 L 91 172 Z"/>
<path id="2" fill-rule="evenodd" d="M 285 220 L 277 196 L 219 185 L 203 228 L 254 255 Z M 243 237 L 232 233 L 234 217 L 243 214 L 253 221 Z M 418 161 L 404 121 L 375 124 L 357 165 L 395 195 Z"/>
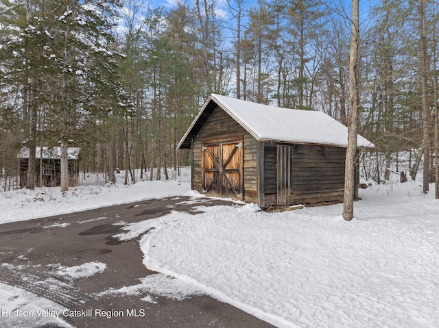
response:
<path id="1" fill-rule="evenodd" d="M 439 327 L 439 201 L 434 192 L 423 195 L 418 181 L 392 178 L 360 190 L 349 223 L 340 204 L 271 214 L 252 204 L 201 206 L 204 213 L 195 216 L 173 212 L 128 225 L 119 238 L 142 236 L 145 266 L 277 327 Z M 153 197 L 198 197 L 177 181 L 58 193 L 1 192 L 0 222 Z M 3 290 L 10 287 L 0 285 Z M 15 296 L 38 303 L 24 291 L 15 289 Z M 0 308 L 7 306 L 0 300 Z"/>

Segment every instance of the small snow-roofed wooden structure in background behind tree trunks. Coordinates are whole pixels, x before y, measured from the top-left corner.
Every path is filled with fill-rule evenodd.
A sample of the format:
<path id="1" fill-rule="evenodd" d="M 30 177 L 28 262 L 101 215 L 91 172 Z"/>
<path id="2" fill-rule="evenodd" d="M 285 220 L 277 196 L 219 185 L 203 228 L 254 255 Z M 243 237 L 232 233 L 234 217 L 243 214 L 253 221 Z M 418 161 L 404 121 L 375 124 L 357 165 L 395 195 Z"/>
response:
<path id="1" fill-rule="evenodd" d="M 43 177 L 43 186 L 60 186 L 60 147 L 36 147 L 35 148 L 35 175 L 36 181 Z M 79 177 L 80 148 L 70 147 L 69 156 L 69 177 L 71 185 L 74 186 Z M 29 164 L 29 148 L 23 147 L 17 155 L 19 160 L 20 186 L 26 184 L 27 167 Z"/>

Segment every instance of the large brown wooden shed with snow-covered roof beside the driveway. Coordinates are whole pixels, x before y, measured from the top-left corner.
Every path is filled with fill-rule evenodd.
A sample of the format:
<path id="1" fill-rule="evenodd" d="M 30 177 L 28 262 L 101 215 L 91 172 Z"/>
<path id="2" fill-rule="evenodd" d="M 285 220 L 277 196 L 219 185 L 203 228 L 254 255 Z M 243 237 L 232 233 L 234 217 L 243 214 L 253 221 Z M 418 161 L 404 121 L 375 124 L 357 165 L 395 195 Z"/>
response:
<path id="1" fill-rule="evenodd" d="M 268 207 L 342 201 L 347 140 L 322 112 L 211 94 L 178 149 L 191 149 L 193 190 Z"/>

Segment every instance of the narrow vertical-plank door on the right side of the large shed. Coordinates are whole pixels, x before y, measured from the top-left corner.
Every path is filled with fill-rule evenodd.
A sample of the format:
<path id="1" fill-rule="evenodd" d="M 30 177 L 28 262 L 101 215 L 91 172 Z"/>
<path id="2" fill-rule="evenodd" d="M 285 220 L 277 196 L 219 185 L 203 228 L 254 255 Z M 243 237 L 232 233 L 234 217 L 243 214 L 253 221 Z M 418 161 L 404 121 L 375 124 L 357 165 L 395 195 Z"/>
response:
<path id="1" fill-rule="evenodd" d="M 277 205 L 293 203 L 293 147 L 277 146 Z"/>

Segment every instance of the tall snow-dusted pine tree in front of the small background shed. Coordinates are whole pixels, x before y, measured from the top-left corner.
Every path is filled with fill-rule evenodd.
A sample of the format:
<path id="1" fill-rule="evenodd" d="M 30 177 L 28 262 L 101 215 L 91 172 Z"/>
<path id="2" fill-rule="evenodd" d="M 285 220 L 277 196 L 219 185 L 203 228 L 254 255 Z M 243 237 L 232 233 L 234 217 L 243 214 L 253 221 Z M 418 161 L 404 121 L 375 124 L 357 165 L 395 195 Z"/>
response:
<path id="1" fill-rule="evenodd" d="M 69 188 L 69 144 L 84 139 L 84 123 L 99 122 L 116 108 L 132 112 L 117 79 L 113 29 L 119 0 L 51 0 L 32 3 L 32 21 L 9 42 L 10 71 L 29 94 L 30 125 L 45 111 L 38 126 L 61 147 L 61 191 Z M 24 63 L 24 64 L 23 64 Z M 91 119 L 90 119 L 91 118 Z M 34 149 L 33 144 L 29 144 Z M 32 160 L 29 164 L 32 165 Z M 34 168 L 29 166 L 29 173 Z"/>

